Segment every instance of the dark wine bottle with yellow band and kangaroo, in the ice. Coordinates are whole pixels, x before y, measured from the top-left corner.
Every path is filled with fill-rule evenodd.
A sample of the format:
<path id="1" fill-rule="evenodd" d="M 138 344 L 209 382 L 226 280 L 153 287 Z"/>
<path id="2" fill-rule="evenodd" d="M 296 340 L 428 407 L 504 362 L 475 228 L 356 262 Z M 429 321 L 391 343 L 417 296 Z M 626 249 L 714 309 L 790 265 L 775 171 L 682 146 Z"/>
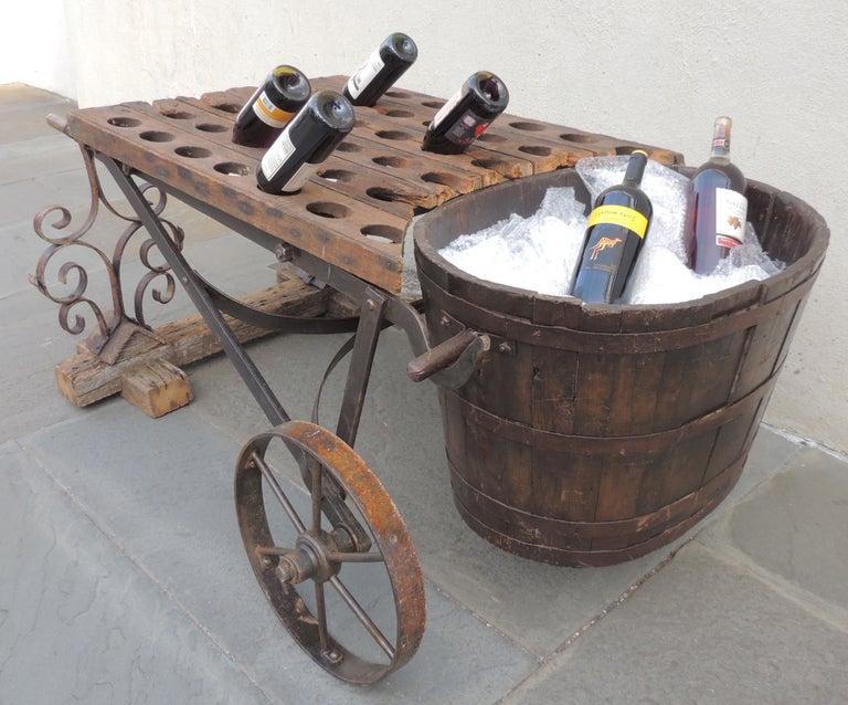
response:
<path id="1" fill-rule="evenodd" d="M 630 155 L 624 181 L 602 191 L 589 215 L 572 295 L 587 304 L 614 304 L 650 227 L 653 207 L 642 190 L 648 155 Z"/>

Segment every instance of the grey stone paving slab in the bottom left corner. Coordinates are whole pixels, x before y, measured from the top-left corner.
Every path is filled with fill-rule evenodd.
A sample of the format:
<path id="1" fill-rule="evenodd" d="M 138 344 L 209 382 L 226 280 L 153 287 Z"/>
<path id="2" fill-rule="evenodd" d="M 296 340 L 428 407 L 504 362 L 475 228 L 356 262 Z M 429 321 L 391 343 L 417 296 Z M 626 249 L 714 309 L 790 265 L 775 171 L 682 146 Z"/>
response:
<path id="1" fill-rule="evenodd" d="M 268 701 L 14 442 L 0 445 L 3 703 Z"/>

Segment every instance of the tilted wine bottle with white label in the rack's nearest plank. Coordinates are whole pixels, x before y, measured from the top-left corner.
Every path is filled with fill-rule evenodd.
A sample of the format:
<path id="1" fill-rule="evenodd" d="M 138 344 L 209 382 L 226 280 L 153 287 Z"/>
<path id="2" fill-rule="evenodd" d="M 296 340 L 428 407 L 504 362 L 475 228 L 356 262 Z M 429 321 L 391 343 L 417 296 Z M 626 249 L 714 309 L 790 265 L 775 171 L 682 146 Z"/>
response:
<path id="1" fill-rule="evenodd" d="M 299 191 L 354 122 L 353 106 L 341 93 L 316 92 L 263 156 L 256 169 L 258 187 L 268 193 Z"/>

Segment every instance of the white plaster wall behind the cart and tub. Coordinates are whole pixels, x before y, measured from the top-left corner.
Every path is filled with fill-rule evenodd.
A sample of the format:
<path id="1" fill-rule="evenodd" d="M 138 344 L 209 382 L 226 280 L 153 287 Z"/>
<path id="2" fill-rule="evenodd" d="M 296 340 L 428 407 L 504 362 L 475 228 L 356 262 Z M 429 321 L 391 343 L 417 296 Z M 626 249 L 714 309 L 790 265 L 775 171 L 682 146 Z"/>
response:
<path id="1" fill-rule="evenodd" d="M 252 85 L 283 62 L 309 75 L 348 74 L 389 32 L 405 31 L 420 57 L 401 86 L 447 96 L 487 69 L 509 86 L 510 113 L 675 148 L 692 166 L 707 156 L 713 118 L 731 115 L 733 157 L 746 176 L 808 201 L 834 230 L 766 420 L 848 452 L 840 0 L 33 4 L 64 13 L 68 66 L 47 75 L 41 48 L 21 46 L 25 65 L 40 69 L 19 64 L 21 75 L 9 80 L 82 106 Z"/>

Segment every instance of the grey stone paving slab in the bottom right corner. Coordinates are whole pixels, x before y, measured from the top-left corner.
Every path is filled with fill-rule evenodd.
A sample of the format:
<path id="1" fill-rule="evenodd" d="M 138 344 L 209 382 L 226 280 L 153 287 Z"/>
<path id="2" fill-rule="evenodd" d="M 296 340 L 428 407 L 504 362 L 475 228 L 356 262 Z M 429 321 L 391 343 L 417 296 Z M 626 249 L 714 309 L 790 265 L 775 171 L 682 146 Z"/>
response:
<path id="1" fill-rule="evenodd" d="M 848 629 L 695 541 L 504 705 L 831 705 Z"/>

